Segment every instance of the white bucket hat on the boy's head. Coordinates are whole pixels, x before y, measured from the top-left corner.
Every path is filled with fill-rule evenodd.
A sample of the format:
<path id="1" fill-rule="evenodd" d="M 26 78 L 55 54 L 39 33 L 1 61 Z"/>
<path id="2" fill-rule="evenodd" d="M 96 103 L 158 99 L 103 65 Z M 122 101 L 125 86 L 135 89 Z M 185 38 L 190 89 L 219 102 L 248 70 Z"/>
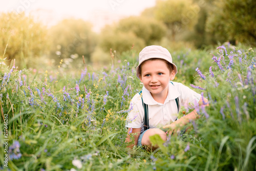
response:
<path id="1" fill-rule="evenodd" d="M 139 54 L 139 65 L 136 67 L 136 76 L 139 77 L 139 66 L 141 65 L 142 62 L 144 62 L 147 59 L 151 58 L 159 58 L 159 59 L 164 59 L 171 63 L 174 66 L 174 72 L 175 75 L 177 74 L 177 67 L 173 63 L 172 55 L 170 55 L 169 51 L 161 46 L 147 46 Z"/>

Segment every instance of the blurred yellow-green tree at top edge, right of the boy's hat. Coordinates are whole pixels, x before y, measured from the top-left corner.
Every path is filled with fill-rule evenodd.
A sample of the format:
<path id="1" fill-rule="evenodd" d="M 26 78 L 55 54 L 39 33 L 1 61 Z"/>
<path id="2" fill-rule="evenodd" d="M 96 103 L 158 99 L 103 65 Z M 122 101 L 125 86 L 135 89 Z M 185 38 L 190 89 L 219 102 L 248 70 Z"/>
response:
<path id="1" fill-rule="evenodd" d="M 197 23 L 200 8 L 191 0 L 158 0 L 155 16 L 166 24 L 171 31 L 172 39 L 181 29 L 192 29 Z"/>

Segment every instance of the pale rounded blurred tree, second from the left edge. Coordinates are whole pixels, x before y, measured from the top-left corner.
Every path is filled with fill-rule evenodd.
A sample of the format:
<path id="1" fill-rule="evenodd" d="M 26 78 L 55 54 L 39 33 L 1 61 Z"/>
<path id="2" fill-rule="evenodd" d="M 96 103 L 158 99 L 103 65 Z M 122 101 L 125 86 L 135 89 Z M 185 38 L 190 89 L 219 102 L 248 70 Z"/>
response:
<path id="1" fill-rule="evenodd" d="M 51 54 L 69 58 L 74 54 L 84 55 L 91 61 L 91 54 L 97 44 L 97 35 L 92 25 L 82 19 L 64 19 L 50 29 Z M 76 56 L 77 56 L 76 55 Z"/>

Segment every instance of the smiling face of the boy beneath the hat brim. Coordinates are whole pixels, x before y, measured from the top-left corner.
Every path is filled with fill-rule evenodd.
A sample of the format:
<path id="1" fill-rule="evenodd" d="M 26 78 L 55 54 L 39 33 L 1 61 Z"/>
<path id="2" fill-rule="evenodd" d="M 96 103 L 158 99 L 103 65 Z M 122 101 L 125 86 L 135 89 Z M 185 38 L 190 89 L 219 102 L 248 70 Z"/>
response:
<path id="1" fill-rule="evenodd" d="M 146 60 L 141 65 L 140 81 L 152 97 L 167 97 L 168 84 L 175 77 L 163 60 Z"/>

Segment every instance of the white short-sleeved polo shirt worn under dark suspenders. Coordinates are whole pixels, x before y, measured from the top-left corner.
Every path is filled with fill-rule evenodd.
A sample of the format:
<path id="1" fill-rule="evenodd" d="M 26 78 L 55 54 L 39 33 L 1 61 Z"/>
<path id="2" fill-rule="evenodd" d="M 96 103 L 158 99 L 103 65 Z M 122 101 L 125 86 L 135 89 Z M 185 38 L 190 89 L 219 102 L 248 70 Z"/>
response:
<path id="1" fill-rule="evenodd" d="M 174 85 L 173 85 L 174 84 Z M 199 102 L 201 95 L 189 89 L 179 82 L 169 82 L 168 95 L 164 103 L 154 100 L 151 93 L 142 88 L 143 102 L 148 105 L 148 123 L 150 128 L 161 128 L 164 125 L 174 122 L 178 117 L 178 109 L 175 99 L 179 98 L 179 105 L 194 109 Z M 130 108 L 132 110 L 127 115 L 126 127 L 140 128 L 144 131 L 144 109 L 141 96 L 137 93 L 131 100 Z"/>

